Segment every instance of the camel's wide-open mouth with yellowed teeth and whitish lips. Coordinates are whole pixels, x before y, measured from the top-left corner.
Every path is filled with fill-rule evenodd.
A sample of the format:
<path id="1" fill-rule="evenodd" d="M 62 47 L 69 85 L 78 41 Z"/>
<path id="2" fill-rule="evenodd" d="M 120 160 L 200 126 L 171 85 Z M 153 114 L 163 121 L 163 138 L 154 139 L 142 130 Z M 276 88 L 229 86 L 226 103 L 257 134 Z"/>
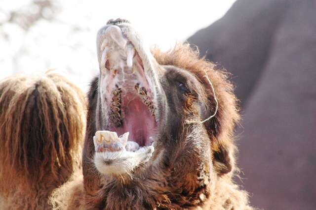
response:
<path id="1" fill-rule="evenodd" d="M 97 131 L 94 145 L 95 159 L 102 160 L 95 161 L 96 166 L 103 173 L 113 173 L 111 167 L 118 163 L 124 167 L 128 158 L 136 167 L 147 162 L 154 151 L 155 86 L 150 55 L 140 43 L 128 26 L 110 25 L 98 32 L 99 91 L 105 126 Z"/>

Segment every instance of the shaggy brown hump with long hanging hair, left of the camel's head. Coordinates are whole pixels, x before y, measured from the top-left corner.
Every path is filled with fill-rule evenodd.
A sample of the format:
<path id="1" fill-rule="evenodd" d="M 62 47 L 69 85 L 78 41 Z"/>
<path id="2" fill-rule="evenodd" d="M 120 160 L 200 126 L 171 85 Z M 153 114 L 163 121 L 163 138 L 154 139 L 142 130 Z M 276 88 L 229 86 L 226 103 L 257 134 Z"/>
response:
<path id="1" fill-rule="evenodd" d="M 80 170 L 86 101 L 55 73 L 0 81 L 0 209 L 51 209 L 51 192 Z"/>

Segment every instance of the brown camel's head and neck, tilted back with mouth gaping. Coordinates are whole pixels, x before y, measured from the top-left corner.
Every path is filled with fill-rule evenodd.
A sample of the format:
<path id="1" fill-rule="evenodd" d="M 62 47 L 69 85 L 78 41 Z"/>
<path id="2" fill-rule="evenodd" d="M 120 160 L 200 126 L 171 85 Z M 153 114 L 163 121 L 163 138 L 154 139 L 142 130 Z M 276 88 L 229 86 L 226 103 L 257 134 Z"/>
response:
<path id="1" fill-rule="evenodd" d="M 98 31 L 85 208 L 251 210 L 232 180 L 239 115 L 228 74 L 188 44 L 169 52 L 146 46 L 126 20 Z"/>

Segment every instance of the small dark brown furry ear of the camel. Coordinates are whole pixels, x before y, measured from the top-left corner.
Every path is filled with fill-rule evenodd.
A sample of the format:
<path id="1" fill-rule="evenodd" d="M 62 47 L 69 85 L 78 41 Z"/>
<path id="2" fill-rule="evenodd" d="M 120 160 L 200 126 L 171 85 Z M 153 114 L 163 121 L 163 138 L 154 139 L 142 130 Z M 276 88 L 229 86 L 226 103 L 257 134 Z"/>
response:
<path id="1" fill-rule="evenodd" d="M 213 155 L 213 165 L 219 176 L 232 171 L 233 158 L 231 157 L 228 147 L 225 148 L 224 146 L 219 146 L 219 149 L 215 150 Z"/>

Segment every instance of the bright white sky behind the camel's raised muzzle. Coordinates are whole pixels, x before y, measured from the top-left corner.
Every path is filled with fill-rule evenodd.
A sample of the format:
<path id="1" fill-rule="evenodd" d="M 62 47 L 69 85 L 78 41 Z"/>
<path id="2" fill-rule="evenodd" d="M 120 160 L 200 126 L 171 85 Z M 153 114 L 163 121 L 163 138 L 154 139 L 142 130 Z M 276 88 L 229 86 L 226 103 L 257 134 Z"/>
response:
<path id="1" fill-rule="evenodd" d="M 0 0 L 0 23 L 10 11 L 36 11 L 31 0 Z M 221 18 L 235 0 L 135 1 L 60 0 L 53 20 L 38 21 L 27 32 L 0 25 L 0 79 L 15 72 L 64 72 L 83 90 L 98 72 L 96 32 L 111 18 L 129 20 L 149 44 L 168 49 Z M 4 38 L 6 37 L 6 38 Z"/>

